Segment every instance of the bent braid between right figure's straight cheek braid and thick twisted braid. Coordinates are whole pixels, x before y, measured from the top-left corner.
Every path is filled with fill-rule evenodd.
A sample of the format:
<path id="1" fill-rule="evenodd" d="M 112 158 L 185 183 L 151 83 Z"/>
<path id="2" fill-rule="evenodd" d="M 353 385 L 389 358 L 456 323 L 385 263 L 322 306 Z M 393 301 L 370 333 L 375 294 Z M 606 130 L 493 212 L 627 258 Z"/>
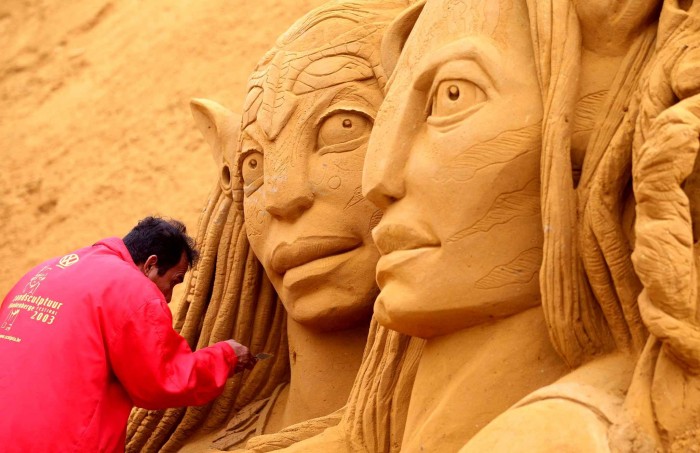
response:
<path id="1" fill-rule="evenodd" d="M 655 33 L 646 30 L 621 64 L 586 150 L 579 197 L 581 255 L 586 275 L 617 349 L 639 353 L 647 331 L 637 306 L 641 283 L 632 266 L 623 212 L 631 199 L 631 153 L 639 87 Z"/>

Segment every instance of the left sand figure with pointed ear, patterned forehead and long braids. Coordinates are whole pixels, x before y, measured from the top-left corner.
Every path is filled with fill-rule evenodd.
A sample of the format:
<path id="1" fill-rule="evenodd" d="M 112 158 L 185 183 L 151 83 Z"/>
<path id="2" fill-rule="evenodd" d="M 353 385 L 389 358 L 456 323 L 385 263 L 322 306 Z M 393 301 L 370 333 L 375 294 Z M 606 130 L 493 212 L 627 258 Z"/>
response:
<path id="1" fill-rule="evenodd" d="M 208 406 L 134 411 L 128 451 L 234 448 L 345 404 L 378 292 L 371 231 L 381 212 L 360 182 L 387 80 L 379 45 L 405 7 L 330 2 L 262 58 L 242 117 L 193 101 L 221 177 L 200 220 L 204 253 L 176 327 L 193 345 L 233 337 L 274 358 Z M 311 423 L 304 437 L 340 413 Z"/>

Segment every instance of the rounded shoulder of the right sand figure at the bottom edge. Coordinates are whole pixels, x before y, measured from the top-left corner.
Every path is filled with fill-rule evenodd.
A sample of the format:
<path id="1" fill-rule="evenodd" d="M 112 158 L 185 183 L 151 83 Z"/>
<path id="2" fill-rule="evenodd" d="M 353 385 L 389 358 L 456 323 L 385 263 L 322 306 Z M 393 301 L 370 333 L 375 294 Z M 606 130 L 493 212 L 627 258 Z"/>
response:
<path id="1" fill-rule="evenodd" d="M 460 453 L 608 452 L 609 428 L 625 424 L 634 370 L 626 354 L 589 362 L 496 417 Z"/>

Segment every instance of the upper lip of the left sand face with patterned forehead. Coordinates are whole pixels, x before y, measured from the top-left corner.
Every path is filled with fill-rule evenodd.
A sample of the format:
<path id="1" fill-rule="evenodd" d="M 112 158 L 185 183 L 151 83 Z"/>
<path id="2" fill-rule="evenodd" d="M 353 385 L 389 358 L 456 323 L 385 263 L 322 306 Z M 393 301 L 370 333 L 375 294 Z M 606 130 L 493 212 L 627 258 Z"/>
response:
<path id="1" fill-rule="evenodd" d="M 282 242 L 272 252 L 272 270 L 284 274 L 312 261 L 353 250 L 362 241 L 354 237 L 309 236 L 290 243 Z"/>

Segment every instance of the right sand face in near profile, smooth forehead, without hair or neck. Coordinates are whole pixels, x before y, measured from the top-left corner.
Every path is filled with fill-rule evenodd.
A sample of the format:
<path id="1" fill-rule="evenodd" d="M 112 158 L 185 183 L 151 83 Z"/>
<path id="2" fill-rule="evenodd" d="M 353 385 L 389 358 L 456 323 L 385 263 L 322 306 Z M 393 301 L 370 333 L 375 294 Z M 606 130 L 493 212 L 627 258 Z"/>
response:
<path id="1" fill-rule="evenodd" d="M 365 164 L 381 323 L 428 338 L 539 303 L 541 120 L 524 1 L 429 0 Z"/>

